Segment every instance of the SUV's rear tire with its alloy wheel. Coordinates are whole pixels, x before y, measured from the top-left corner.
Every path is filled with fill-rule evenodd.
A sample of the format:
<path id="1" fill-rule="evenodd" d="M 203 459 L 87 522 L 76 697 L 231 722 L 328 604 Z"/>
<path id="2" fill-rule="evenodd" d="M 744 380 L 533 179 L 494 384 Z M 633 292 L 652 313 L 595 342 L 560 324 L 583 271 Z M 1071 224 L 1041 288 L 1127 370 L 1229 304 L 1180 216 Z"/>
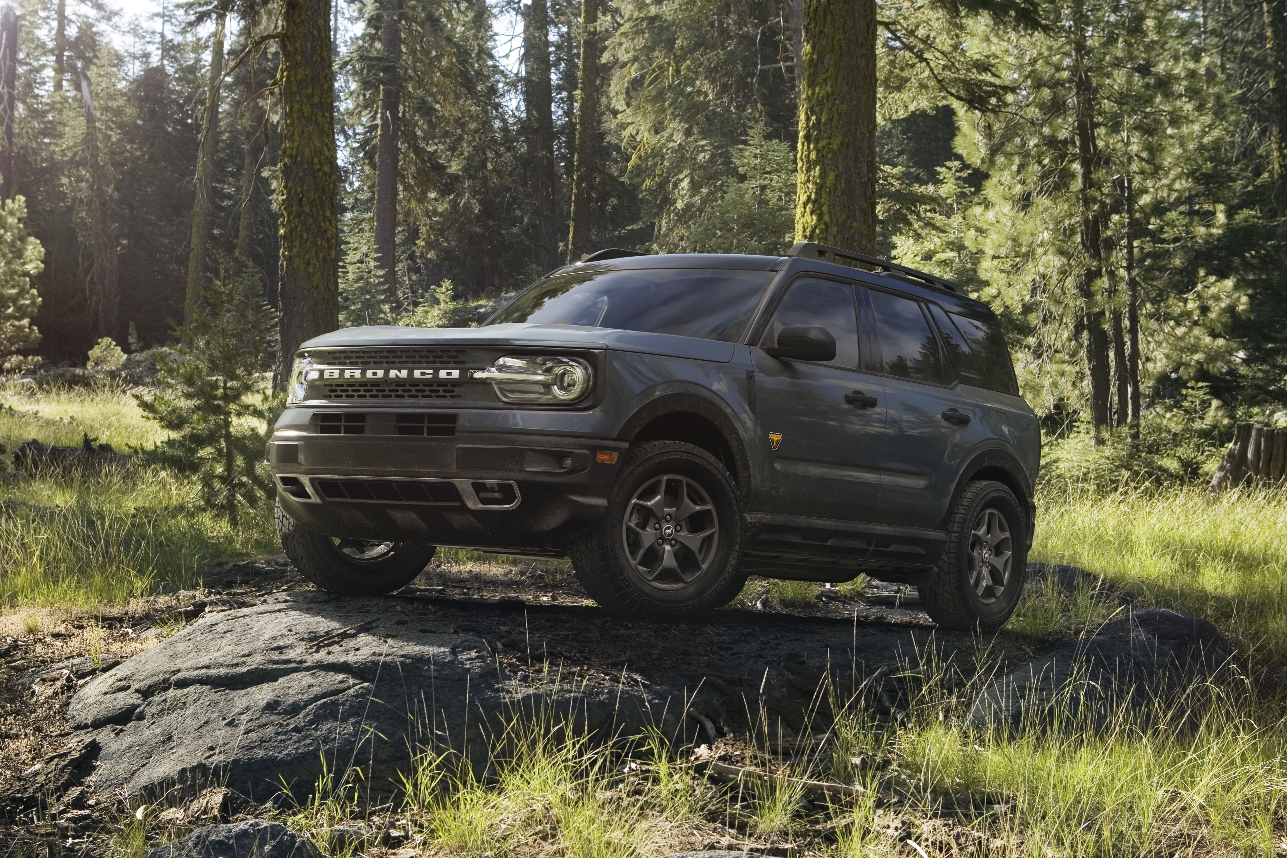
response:
<path id="1" fill-rule="evenodd" d="M 1027 527 L 1027 516 L 1008 486 L 992 480 L 967 484 L 949 515 L 947 545 L 938 567 L 919 587 L 929 617 L 959 632 L 995 632 L 1005 625 L 1023 593 Z M 1005 540 L 997 538 L 1003 531 Z M 990 545 L 994 538 L 997 544 Z M 1004 576 L 991 562 L 999 545 L 1009 554 Z M 985 557 L 987 563 L 982 563 Z M 981 565 L 985 571 L 974 575 Z M 988 583 L 996 578 L 1004 580 Z"/>

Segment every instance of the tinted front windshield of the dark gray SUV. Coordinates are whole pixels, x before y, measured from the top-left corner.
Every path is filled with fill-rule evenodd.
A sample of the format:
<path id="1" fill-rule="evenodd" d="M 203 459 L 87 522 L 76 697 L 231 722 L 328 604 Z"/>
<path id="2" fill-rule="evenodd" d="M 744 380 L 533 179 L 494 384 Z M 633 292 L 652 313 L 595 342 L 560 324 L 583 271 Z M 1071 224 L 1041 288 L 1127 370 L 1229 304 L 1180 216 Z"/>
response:
<path id="1" fill-rule="evenodd" d="M 488 324 L 537 322 L 736 342 L 773 271 L 598 270 L 538 280 Z"/>

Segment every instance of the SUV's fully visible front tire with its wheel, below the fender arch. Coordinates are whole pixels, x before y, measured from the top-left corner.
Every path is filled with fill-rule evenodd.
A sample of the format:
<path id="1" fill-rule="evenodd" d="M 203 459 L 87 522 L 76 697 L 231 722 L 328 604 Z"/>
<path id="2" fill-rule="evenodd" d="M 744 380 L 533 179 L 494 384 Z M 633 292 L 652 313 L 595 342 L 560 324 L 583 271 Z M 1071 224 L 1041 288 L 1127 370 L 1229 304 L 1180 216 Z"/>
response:
<path id="1" fill-rule="evenodd" d="M 692 500 L 690 506 L 681 503 L 680 491 Z M 654 493 L 656 502 L 642 502 Z M 672 502 L 673 508 L 665 506 Z M 668 509 L 673 521 L 654 516 Z M 680 518 L 686 509 L 695 512 Z M 687 533 L 681 529 L 674 539 L 662 539 L 667 525 L 687 526 L 683 522 L 692 522 Z M 708 531 L 709 536 L 701 535 Z M 718 459 L 682 441 L 645 441 L 622 459 L 604 520 L 569 545 L 568 556 L 577 580 L 609 611 L 678 616 L 727 605 L 737 596 L 745 583 L 737 571 L 745 531 L 741 494 Z M 650 565 L 655 570 L 641 569 Z M 651 579 L 650 571 L 656 572 Z"/>

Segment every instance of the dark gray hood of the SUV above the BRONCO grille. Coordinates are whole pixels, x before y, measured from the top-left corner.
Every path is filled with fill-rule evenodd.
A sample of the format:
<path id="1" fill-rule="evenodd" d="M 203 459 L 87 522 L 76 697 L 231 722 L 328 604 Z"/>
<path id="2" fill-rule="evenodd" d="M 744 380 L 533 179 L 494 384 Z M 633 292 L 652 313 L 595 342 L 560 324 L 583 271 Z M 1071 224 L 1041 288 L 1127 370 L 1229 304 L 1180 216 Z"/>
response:
<path id="1" fill-rule="evenodd" d="M 677 337 L 669 333 L 583 328 L 570 324 L 490 324 L 483 328 L 404 328 L 371 325 L 341 328 L 313 337 L 300 349 L 344 346 L 523 346 L 550 349 L 606 349 L 669 358 L 728 363 L 736 346 L 731 342 Z"/>

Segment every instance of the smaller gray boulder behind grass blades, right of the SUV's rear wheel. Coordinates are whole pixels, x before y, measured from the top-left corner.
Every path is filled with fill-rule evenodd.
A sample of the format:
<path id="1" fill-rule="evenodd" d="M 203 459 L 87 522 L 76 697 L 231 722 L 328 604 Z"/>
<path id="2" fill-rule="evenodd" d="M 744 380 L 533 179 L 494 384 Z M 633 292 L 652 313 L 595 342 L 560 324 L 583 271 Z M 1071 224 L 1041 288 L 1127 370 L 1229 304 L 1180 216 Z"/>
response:
<path id="1" fill-rule="evenodd" d="M 991 682 L 968 723 L 1021 731 L 1060 723 L 1102 729 L 1160 713 L 1185 720 L 1210 697 L 1197 686 L 1228 679 L 1232 659 L 1229 642 L 1202 617 L 1148 608 Z"/>

